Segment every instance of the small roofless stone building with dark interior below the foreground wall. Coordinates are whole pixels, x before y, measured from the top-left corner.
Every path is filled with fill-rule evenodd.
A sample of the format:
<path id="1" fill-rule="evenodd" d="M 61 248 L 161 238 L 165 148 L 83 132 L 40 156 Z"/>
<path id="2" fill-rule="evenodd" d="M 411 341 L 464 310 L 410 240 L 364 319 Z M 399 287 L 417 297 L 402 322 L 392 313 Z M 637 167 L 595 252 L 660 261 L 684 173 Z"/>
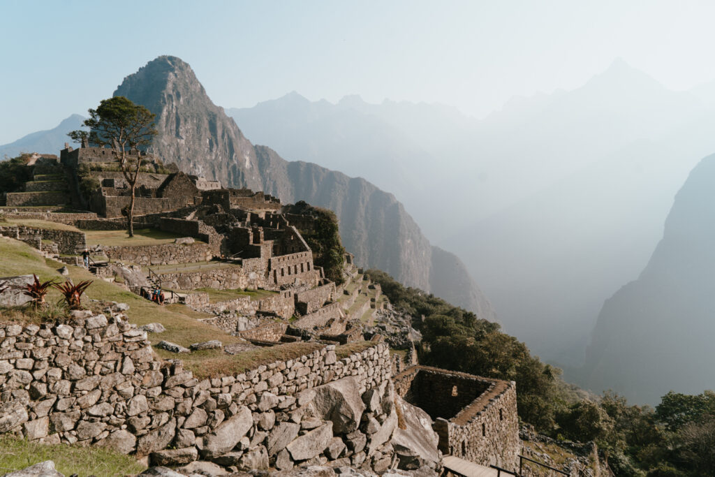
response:
<path id="1" fill-rule="evenodd" d="M 426 366 L 393 382 L 398 395 L 435 419 L 440 451 L 485 466 L 518 466 L 516 383 Z"/>

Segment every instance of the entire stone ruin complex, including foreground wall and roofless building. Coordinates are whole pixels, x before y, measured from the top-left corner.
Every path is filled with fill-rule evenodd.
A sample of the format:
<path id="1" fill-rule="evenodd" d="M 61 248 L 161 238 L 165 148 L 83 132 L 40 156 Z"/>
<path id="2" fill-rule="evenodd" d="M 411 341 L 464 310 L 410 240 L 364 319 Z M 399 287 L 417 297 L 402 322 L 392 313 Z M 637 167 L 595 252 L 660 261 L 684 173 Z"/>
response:
<path id="1" fill-rule="evenodd" d="M 66 147 L 60 161 L 66 171 L 77 171 L 81 164 L 111 164 L 110 158 L 109 149 Z M 15 216 L 122 230 L 127 184 L 111 167 L 95 169 L 99 187 L 89 201 L 92 212 Z M 318 349 L 199 380 L 181 361 L 159 360 L 146 332 L 129 325 L 117 308 L 105 315 L 77 312 L 66 324 L 0 323 L 0 433 L 111 446 L 156 465 L 202 459 L 240 470 L 331 463 L 375 472 L 438 471 L 442 453 L 516 467 L 515 383 L 412 366 L 417 353 L 409 326 L 408 333 L 389 337 L 404 345 L 408 358 L 390 357 L 380 335 L 390 327 L 370 328 L 380 309 L 379 285 L 360 275 L 350 255 L 345 284 L 325 279 L 300 233 L 311 230 L 310 215 L 282 213 L 275 197 L 225 189 L 182 172 L 140 176 L 135 227 L 190 240 L 101 247 L 114 270 L 126 272 L 125 287 L 138 293 L 159 285 L 189 308 L 212 313 L 205 323 L 245 340 L 231 353 L 300 340 Z M 56 250 L 49 252 L 69 255 L 86 246 L 83 232 L 69 230 L 10 226 L 0 234 L 39 249 L 51 242 Z M 192 264 L 199 265 L 170 267 Z M 152 267 L 149 283 L 137 270 Z M 197 291 L 204 287 L 275 294 L 216 303 Z M 387 315 L 400 328 L 394 313 Z M 336 345 L 366 338 L 374 342 L 364 351 L 337 359 Z"/>

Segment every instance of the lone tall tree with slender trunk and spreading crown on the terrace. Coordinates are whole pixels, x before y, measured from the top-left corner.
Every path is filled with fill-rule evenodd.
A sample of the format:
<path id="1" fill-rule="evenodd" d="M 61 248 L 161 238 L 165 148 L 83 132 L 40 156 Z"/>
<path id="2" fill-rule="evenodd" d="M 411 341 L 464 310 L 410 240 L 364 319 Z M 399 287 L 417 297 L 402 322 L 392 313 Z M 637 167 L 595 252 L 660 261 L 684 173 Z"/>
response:
<path id="1" fill-rule="evenodd" d="M 112 155 L 117 159 L 131 190 L 127 208 L 129 237 L 134 237 L 134 192 L 144 162 L 142 148 L 147 147 L 157 135 L 154 117 L 142 105 L 134 104 L 123 96 L 115 96 L 102 99 L 97 109 L 89 109 L 89 119 L 84 121 L 84 125 L 90 128 L 89 137 L 82 130 L 68 134 L 77 142 L 87 139 L 89 144 L 112 149 Z"/>

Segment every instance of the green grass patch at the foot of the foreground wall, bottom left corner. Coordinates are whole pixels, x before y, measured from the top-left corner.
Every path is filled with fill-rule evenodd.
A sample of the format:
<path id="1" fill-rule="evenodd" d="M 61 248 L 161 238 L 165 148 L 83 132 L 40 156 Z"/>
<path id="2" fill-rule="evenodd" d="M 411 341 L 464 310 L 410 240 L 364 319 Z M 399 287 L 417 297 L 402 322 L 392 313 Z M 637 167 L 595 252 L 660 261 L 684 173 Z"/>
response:
<path id="1" fill-rule="evenodd" d="M 98 447 L 40 444 L 22 439 L 0 438 L 0 473 L 16 471 L 43 461 L 54 461 L 65 476 L 113 477 L 134 475 L 144 470 L 132 456 Z"/>

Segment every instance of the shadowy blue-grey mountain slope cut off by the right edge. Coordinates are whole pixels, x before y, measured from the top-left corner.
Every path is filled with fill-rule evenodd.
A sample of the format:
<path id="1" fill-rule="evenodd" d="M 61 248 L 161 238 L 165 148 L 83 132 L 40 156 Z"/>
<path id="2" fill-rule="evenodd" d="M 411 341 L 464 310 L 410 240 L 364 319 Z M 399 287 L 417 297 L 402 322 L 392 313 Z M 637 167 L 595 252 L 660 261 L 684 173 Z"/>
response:
<path id="1" fill-rule="evenodd" d="M 696 394 L 715 382 L 715 155 L 675 198 L 663 239 L 638 280 L 603 305 L 583 384 L 640 403 L 669 390 Z"/>

